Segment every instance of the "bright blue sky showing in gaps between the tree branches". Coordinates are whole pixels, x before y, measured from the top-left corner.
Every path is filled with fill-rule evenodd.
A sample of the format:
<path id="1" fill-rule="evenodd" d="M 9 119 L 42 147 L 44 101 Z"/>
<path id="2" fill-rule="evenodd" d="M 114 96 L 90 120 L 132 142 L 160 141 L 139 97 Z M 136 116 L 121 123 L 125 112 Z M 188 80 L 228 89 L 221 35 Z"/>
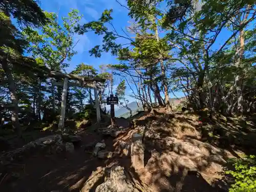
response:
<path id="1" fill-rule="evenodd" d="M 112 17 L 113 17 L 113 25 L 118 33 L 123 34 L 122 29 L 126 31 L 126 27 L 129 26 L 129 21 L 131 18 L 127 16 L 128 10 L 124 7 L 121 7 L 116 0 L 40 0 L 40 6 L 43 10 L 48 12 L 55 12 L 61 16 L 67 16 L 68 12 L 71 9 L 77 9 L 80 14 L 83 15 L 80 23 L 84 24 L 90 22 L 92 20 L 97 20 L 102 11 L 105 9 L 113 9 Z M 119 0 L 119 2 L 123 5 L 126 5 L 126 0 Z M 253 23 L 254 24 L 254 23 Z M 252 24 L 252 25 L 253 25 Z M 214 49 L 218 49 L 221 47 L 223 42 L 229 37 L 230 32 L 227 30 L 223 30 L 215 45 L 213 46 Z M 96 45 L 101 45 L 101 37 L 92 33 L 86 33 L 84 35 L 76 35 L 76 40 L 79 39 L 75 50 L 78 52 L 72 60 L 69 62 L 70 67 L 67 69 L 67 72 L 71 72 L 79 63 L 84 62 L 88 65 L 94 66 L 97 70 L 100 71 L 100 65 L 106 64 L 115 64 L 119 63 L 115 56 L 112 56 L 110 53 L 103 53 L 101 58 L 95 58 L 94 56 L 90 56 L 89 50 Z M 120 39 L 119 43 L 124 44 L 125 41 Z M 120 77 L 115 77 L 114 82 L 114 89 L 116 88 L 117 84 L 121 81 Z M 133 87 L 133 85 L 132 85 Z M 136 90 L 136 89 L 134 89 Z M 126 95 L 131 94 L 132 91 L 127 86 Z M 181 97 L 183 93 L 175 93 L 176 96 Z M 174 95 L 170 94 L 170 97 L 174 97 Z M 129 101 L 134 101 L 134 98 L 127 97 Z"/>

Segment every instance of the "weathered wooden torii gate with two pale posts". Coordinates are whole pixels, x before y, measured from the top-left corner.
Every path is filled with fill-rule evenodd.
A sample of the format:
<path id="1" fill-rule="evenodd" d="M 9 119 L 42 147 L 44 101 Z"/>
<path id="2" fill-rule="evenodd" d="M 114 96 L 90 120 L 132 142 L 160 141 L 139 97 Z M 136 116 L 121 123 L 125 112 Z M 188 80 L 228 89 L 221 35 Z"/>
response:
<path id="1" fill-rule="evenodd" d="M 100 107 L 99 107 L 99 99 L 98 99 L 98 91 L 101 90 L 102 86 L 97 86 L 96 82 L 104 82 L 105 79 L 102 78 L 93 78 L 93 77 L 83 77 L 73 74 L 65 74 L 56 71 L 50 71 L 49 77 L 59 77 L 64 78 L 64 82 L 53 82 L 55 86 L 63 86 L 62 95 L 61 95 L 61 111 L 58 129 L 63 130 L 64 120 L 65 120 L 65 112 L 66 112 L 66 102 L 67 102 L 67 90 L 68 87 L 84 87 L 84 88 L 93 88 L 94 89 L 94 97 L 95 97 L 95 106 L 96 106 L 96 114 L 97 114 L 97 123 L 100 123 Z M 68 82 L 69 79 L 77 80 L 79 83 Z M 88 83 L 89 82 L 89 83 Z"/>

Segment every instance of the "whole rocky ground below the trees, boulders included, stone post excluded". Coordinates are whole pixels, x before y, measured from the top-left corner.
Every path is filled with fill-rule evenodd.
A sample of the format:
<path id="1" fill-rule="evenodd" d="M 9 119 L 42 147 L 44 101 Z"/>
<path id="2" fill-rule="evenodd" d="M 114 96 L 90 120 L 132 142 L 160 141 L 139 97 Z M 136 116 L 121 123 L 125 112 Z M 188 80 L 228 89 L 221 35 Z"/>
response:
<path id="1" fill-rule="evenodd" d="M 131 120 L 118 120 L 114 130 L 50 135 L 2 154 L 0 191 L 227 191 L 228 159 L 247 153 L 234 139 L 233 119 L 157 109 Z M 248 142 L 252 131 L 243 135 Z M 143 140 L 139 168 L 132 162 L 134 134 Z"/>

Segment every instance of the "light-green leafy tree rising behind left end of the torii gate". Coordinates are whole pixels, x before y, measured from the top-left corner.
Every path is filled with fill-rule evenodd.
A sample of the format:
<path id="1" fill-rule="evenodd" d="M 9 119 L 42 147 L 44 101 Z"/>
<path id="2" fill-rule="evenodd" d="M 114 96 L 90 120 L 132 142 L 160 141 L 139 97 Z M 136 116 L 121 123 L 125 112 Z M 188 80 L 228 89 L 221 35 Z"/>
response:
<path id="1" fill-rule="evenodd" d="M 49 19 L 49 24 L 41 28 L 41 33 L 37 30 L 26 27 L 23 35 L 31 42 L 29 52 L 40 63 L 44 63 L 47 68 L 53 71 L 61 71 L 68 67 L 67 60 L 77 52 L 74 50 L 78 41 L 74 41 L 74 27 L 78 24 L 81 16 L 77 10 L 68 13 L 68 17 L 62 17 L 63 26 L 58 24 L 58 15 L 45 12 Z M 55 89 L 52 81 L 51 94 L 53 112 L 56 113 Z"/>

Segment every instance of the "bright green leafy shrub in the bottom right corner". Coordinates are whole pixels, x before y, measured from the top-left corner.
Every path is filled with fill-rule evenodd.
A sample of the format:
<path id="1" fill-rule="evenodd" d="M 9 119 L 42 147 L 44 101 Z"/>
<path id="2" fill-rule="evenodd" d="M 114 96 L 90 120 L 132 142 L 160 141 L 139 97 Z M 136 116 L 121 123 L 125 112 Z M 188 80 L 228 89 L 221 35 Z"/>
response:
<path id="1" fill-rule="evenodd" d="M 229 192 L 255 192 L 256 191 L 256 156 L 231 160 L 235 170 L 227 170 L 235 183 L 231 185 Z"/>

